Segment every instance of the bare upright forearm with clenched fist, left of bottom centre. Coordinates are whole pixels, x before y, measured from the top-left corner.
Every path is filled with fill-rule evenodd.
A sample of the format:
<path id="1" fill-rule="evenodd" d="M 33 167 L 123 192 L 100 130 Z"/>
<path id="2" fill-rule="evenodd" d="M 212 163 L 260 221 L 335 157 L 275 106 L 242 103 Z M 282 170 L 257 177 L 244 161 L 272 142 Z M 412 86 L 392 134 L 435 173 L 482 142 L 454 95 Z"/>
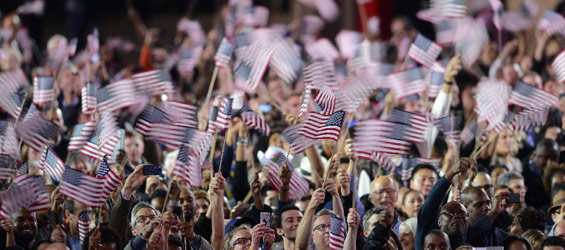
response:
<path id="1" fill-rule="evenodd" d="M 210 181 L 210 191 L 212 205 L 212 238 L 213 249 L 222 249 L 224 244 L 224 188 L 226 180 L 221 173 L 216 173 Z"/>

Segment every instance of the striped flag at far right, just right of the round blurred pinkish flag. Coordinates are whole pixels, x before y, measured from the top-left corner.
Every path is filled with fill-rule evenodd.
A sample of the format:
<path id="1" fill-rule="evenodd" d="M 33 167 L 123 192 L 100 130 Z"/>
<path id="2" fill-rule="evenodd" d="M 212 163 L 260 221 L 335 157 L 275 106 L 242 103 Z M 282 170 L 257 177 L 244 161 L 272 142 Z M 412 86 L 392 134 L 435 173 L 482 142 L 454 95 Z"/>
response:
<path id="1" fill-rule="evenodd" d="M 514 87 L 512 95 L 510 95 L 510 103 L 517 106 L 533 109 L 553 106 L 559 101 L 557 96 L 528 85 L 524 82 L 518 82 Z"/>

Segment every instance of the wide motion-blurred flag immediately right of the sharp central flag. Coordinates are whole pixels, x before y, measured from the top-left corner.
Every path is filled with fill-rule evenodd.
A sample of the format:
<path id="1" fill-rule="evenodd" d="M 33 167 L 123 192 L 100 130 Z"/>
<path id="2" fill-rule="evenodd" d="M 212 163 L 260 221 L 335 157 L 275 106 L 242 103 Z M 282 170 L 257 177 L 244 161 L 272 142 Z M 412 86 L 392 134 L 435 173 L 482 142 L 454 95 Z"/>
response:
<path id="1" fill-rule="evenodd" d="M 390 121 L 369 119 L 355 126 L 354 146 L 358 151 L 377 151 L 385 154 L 403 155 L 410 150 L 410 142 L 392 138 L 397 124 Z"/>

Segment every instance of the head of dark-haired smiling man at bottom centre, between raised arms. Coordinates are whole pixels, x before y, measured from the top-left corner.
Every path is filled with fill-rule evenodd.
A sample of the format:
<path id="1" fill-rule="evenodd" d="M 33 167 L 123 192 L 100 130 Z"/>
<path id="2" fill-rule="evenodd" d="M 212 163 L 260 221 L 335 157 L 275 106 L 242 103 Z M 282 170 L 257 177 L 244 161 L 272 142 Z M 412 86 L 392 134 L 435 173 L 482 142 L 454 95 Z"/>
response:
<path id="1" fill-rule="evenodd" d="M 282 207 L 277 214 L 276 232 L 283 238 L 285 250 L 294 250 L 294 240 L 296 239 L 296 230 L 298 224 L 302 220 L 302 213 L 298 207 L 287 205 Z"/>

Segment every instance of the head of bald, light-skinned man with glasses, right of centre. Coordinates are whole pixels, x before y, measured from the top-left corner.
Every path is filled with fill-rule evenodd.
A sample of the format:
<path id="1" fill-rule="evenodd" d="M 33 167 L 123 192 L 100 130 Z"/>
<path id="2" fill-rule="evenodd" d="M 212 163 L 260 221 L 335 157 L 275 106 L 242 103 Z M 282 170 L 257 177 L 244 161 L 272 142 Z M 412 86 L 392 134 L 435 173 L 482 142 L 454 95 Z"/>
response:
<path id="1" fill-rule="evenodd" d="M 369 198 L 375 207 L 383 207 L 389 212 L 394 213 L 392 229 L 398 234 L 401 221 L 398 213 L 394 209 L 396 200 L 398 199 L 398 185 L 396 182 L 388 176 L 377 177 L 371 182 L 371 194 Z"/>

